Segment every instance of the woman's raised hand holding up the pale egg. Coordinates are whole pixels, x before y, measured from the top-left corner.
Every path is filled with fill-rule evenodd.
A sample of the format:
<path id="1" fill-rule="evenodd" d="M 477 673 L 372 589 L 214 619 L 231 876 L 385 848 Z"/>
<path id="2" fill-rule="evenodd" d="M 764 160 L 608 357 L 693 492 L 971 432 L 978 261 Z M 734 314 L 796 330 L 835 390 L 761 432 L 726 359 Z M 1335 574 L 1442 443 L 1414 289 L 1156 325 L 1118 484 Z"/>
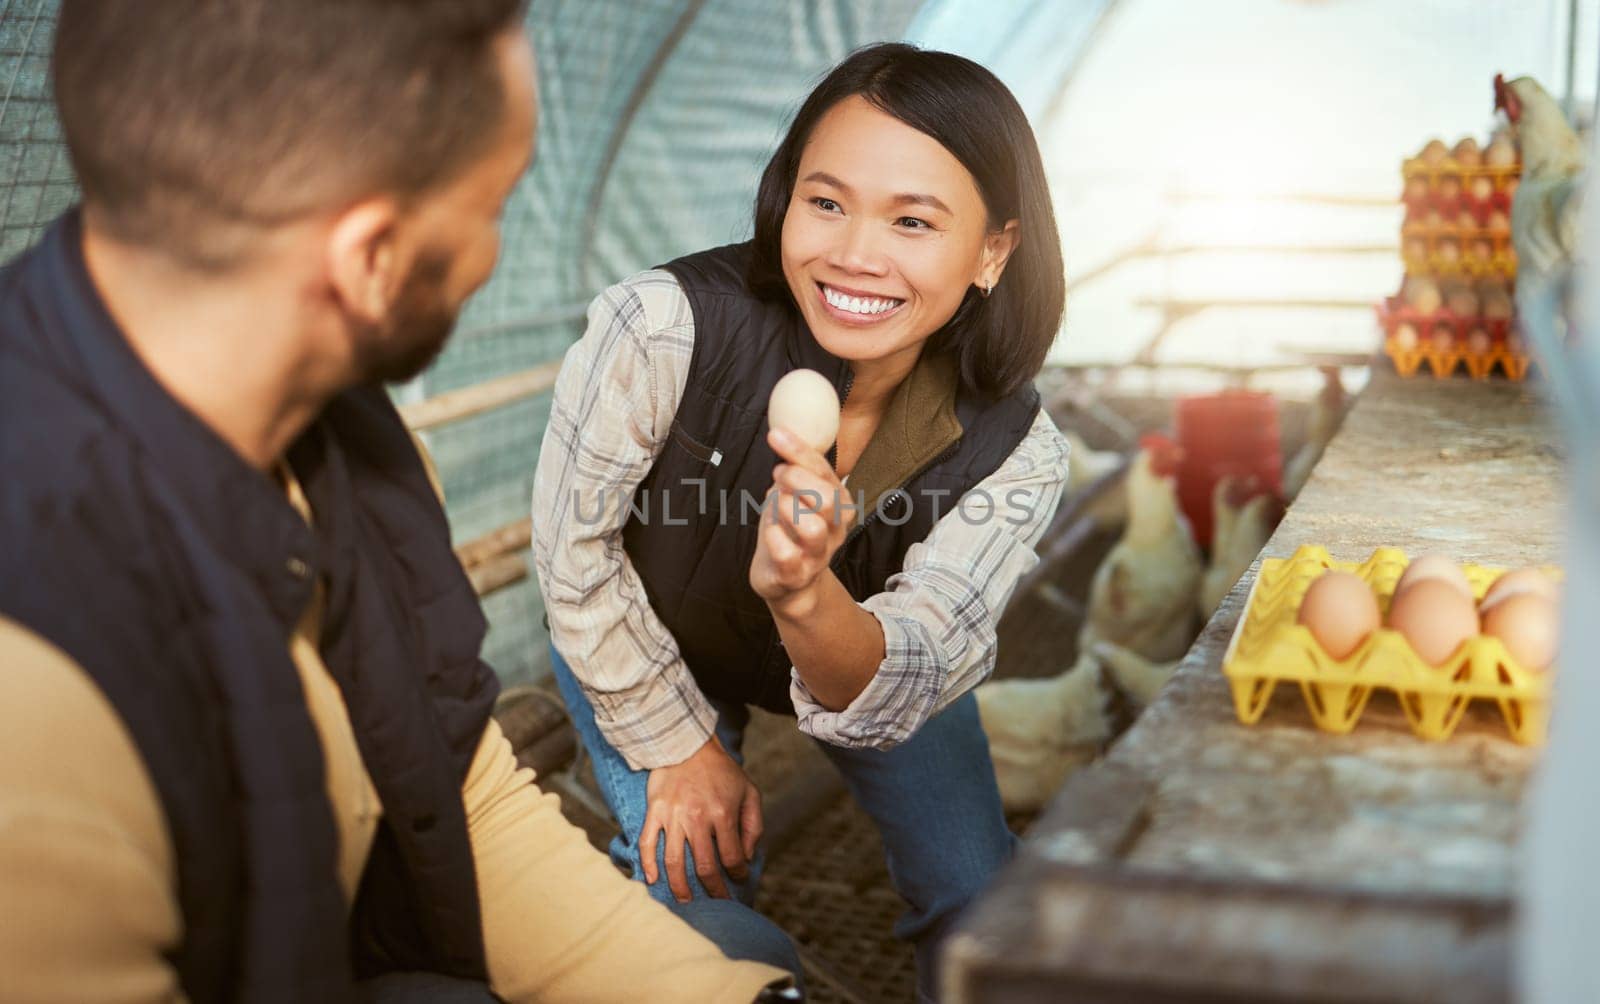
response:
<path id="1" fill-rule="evenodd" d="M 773 488 L 766 492 L 768 507 L 750 561 L 750 588 L 774 612 L 784 608 L 797 612 L 795 608 L 813 596 L 845 540 L 848 520 L 840 508 L 850 505 L 850 496 L 814 446 L 782 428 L 768 432 L 766 441 L 786 462 L 773 468 Z"/>

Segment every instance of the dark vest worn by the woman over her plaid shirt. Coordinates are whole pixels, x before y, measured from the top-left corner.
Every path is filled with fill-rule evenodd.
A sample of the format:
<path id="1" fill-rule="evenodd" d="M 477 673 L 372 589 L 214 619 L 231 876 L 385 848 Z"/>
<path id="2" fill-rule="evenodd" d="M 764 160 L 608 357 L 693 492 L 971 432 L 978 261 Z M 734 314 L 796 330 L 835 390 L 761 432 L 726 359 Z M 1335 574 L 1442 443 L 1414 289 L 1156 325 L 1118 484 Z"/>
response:
<path id="1" fill-rule="evenodd" d="M 635 492 L 622 542 L 701 689 L 794 715 L 790 662 L 749 582 L 760 529 L 754 507 L 778 464 L 766 444 L 766 401 L 797 368 L 832 379 L 843 398 L 850 366 L 811 337 L 792 302 L 750 294 L 747 254 L 749 245 L 733 245 L 664 265 L 693 307 L 694 357 L 670 441 Z M 898 491 L 877 504 L 866 499 L 866 516 L 834 556 L 834 572 L 858 603 L 883 592 L 906 552 L 933 529 L 936 510 L 950 512 L 994 473 L 1037 412 L 1032 385 L 998 401 L 957 395 L 960 438 L 906 472 Z"/>

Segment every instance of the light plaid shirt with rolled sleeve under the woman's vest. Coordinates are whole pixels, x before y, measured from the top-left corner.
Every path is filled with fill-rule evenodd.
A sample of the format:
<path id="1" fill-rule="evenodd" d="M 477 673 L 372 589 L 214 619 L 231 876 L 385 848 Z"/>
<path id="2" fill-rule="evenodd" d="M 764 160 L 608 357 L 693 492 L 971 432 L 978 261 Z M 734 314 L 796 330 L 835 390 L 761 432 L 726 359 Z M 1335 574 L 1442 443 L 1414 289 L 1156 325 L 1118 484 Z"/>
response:
<path id="1" fill-rule="evenodd" d="M 622 550 L 626 502 L 667 443 L 693 352 L 694 315 L 667 272 L 643 272 L 595 297 L 589 329 L 557 377 L 533 481 L 533 556 L 552 641 L 600 731 L 635 769 L 685 761 L 717 721 Z M 1040 409 L 973 489 L 1006 499 L 1018 515 L 973 526 L 952 505 L 885 592 L 862 603 L 883 627 L 885 657 L 856 700 L 829 711 L 792 673 L 800 729 L 840 747 L 893 747 L 987 678 L 995 625 L 1018 579 L 1038 563 L 1034 547 L 1066 475 L 1067 443 Z M 970 512 L 986 508 L 974 500 Z"/>

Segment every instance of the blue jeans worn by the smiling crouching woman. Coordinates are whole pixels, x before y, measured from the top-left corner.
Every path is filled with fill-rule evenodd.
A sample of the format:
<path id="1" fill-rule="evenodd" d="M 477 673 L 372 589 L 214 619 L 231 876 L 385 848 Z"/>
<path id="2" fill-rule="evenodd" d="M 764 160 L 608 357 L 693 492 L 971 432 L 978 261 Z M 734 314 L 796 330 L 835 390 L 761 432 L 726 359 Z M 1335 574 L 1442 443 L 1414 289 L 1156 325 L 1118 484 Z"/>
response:
<path id="1" fill-rule="evenodd" d="M 600 734 L 594 707 L 554 647 L 550 665 L 573 726 L 594 761 L 600 791 L 621 827 L 611 841 L 611 860 L 643 881 L 638 833 L 645 827 L 650 771 L 629 767 Z M 712 703 L 717 708 L 717 739 L 734 759 L 744 763 L 741 740 L 750 721 L 749 710 Z M 915 948 L 918 998 L 931 1001 L 938 986 L 939 942 L 1016 847 L 1000 807 L 989 739 L 978 721 L 978 700 L 971 694 L 963 695 L 893 750 L 818 747 L 883 838 L 890 882 L 907 905 L 894 924 L 894 937 L 909 940 Z M 650 886 L 650 894 L 683 914 L 667 887 L 664 854 L 661 846 L 656 855 L 658 881 Z M 688 879 L 694 902 L 709 900 L 710 894 L 694 875 L 688 847 L 685 857 L 691 862 Z M 758 851 L 744 882 L 734 882 L 723 873 L 728 890 L 742 903 L 742 922 L 731 924 L 726 914 L 718 914 L 715 926 L 701 924 L 693 914 L 685 919 L 731 958 L 758 959 L 798 972 L 787 935 L 749 908 L 763 863 L 765 855 Z M 779 956 L 787 956 L 787 961 Z"/>

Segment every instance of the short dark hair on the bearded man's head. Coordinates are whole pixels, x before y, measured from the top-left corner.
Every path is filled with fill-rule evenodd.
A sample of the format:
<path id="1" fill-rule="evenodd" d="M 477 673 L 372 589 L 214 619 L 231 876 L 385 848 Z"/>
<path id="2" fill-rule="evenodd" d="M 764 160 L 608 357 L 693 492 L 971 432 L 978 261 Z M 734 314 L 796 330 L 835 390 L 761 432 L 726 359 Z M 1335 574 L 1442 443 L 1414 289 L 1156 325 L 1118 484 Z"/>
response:
<path id="1" fill-rule="evenodd" d="M 224 267 L 262 227 L 418 195 L 506 107 L 526 0 L 62 0 L 53 78 L 83 200 L 118 240 Z"/>

